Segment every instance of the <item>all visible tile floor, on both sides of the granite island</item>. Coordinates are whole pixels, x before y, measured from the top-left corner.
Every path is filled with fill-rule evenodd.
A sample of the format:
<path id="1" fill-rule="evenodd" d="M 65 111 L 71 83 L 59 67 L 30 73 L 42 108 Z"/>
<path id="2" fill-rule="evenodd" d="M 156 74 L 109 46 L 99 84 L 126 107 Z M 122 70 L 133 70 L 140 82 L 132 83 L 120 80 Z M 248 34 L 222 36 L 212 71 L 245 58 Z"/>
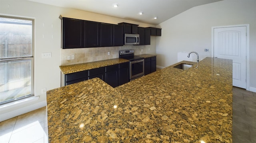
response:
<path id="1" fill-rule="evenodd" d="M 47 143 L 46 108 L 0 122 L 1 143 Z M 256 93 L 233 88 L 233 143 L 256 143 Z"/>

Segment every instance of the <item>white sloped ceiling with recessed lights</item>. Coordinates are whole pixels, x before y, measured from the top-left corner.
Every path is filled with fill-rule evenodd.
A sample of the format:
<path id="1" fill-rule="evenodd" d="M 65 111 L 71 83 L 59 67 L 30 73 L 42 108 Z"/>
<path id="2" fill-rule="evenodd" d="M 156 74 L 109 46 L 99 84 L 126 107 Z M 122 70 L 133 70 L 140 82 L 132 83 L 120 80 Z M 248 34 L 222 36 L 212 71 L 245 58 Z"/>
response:
<path id="1" fill-rule="evenodd" d="M 194 6 L 221 0 L 29 0 L 158 25 Z M 112 5 L 119 6 L 114 8 Z M 139 12 L 144 12 L 139 15 Z M 158 19 L 154 19 L 154 17 Z"/>

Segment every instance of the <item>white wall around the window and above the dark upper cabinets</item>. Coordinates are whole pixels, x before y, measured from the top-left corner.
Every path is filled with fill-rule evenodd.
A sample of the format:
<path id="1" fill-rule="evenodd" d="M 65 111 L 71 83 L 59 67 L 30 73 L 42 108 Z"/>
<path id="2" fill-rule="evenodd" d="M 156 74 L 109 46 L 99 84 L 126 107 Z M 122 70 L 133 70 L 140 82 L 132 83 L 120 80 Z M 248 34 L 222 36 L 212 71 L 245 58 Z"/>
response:
<path id="1" fill-rule="evenodd" d="M 35 110 L 46 105 L 46 94 L 41 94 L 41 89 L 51 90 L 60 87 L 60 69 L 61 64 L 61 20 L 60 15 L 64 17 L 77 18 L 82 20 L 91 20 L 96 22 L 106 22 L 117 24 L 128 22 L 139 24 L 141 27 L 154 27 L 154 25 L 133 22 L 120 18 L 84 12 L 80 10 L 60 8 L 26 0 L 0 0 L 0 14 L 33 18 L 35 20 L 35 47 L 34 47 L 34 94 L 39 99 L 30 102 L 16 104 L 16 106 L 0 106 L 0 121 L 3 121 L 20 114 Z M 150 46 L 132 47 L 139 54 L 139 49 L 150 49 L 145 53 L 155 54 L 156 40 L 151 37 Z M 104 48 L 104 47 L 101 47 Z M 126 47 L 129 48 L 129 47 Z M 52 57 L 42 59 L 42 53 L 51 52 Z M 70 54 L 72 52 L 70 51 Z M 1 108 L 2 107 L 2 108 Z"/>

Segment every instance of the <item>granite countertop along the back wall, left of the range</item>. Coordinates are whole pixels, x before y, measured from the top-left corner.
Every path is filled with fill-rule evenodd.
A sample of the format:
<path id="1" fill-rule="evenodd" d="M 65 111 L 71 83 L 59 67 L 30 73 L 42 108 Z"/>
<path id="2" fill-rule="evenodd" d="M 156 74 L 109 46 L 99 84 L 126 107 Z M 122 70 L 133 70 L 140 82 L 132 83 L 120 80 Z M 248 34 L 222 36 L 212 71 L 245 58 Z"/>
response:
<path id="1" fill-rule="evenodd" d="M 116 59 L 108 59 L 103 61 L 60 66 L 60 70 L 63 74 L 69 74 L 73 72 L 86 71 L 89 69 L 96 69 L 99 67 L 106 67 L 106 66 L 116 65 L 116 64 L 125 63 L 125 62 L 129 62 L 129 61 L 126 59 L 116 58 Z"/>

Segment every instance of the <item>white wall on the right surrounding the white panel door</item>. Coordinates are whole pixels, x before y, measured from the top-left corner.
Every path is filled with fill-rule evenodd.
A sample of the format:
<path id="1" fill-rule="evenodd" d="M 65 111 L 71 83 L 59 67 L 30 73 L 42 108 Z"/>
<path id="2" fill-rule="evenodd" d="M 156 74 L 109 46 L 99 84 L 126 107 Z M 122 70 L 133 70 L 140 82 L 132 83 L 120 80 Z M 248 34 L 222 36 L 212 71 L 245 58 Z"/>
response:
<path id="1" fill-rule="evenodd" d="M 211 30 L 214 26 L 250 24 L 250 90 L 256 92 L 256 0 L 223 0 L 187 10 L 157 25 L 157 65 L 167 67 L 182 60 L 196 61 L 212 56 Z M 209 49 L 205 52 L 204 49 Z"/>

